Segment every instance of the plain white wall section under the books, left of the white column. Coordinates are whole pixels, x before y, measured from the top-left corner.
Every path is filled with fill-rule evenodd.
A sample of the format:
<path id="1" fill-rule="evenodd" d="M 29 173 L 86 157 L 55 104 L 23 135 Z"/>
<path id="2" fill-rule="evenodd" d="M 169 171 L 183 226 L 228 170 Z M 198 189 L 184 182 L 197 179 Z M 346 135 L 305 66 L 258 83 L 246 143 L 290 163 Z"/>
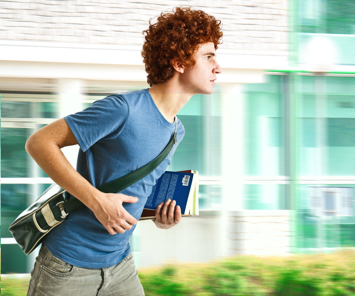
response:
<path id="1" fill-rule="evenodd" d="M 206 211 L 200 211 L 200 215 Z M 222 255 L 222 216 L 182 217 L 171 229 L 159 229 L 151 220 L 139 221 L 134 236 L 140 236 L 140 252 L 134 252 L 139 267 L 169 261 L 207 262 Z"/>

